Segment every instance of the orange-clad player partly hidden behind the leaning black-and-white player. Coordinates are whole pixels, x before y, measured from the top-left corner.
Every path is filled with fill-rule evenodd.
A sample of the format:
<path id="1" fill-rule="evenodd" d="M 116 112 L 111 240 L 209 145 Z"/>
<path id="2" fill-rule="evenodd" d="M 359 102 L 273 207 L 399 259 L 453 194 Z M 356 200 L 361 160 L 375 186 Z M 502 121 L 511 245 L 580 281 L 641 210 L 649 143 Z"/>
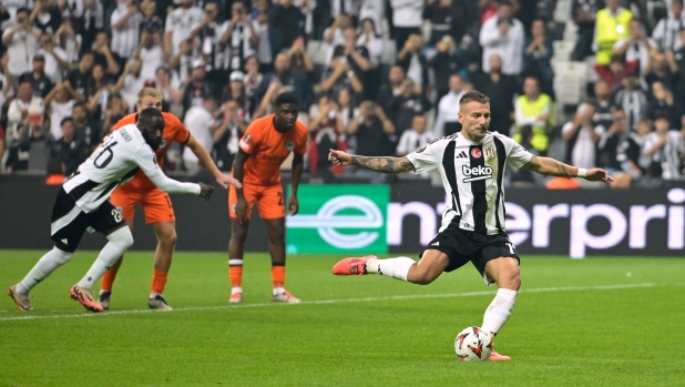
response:
<path id="1" fill-rule="evenodd" d="M 145 108 L 156 108 L 162 110 L 162 93 L 153 88 L 145 88 L 137 93 L 136 111 L 142 111 Z M 205 165 L 209 172 L 216 177 L 218 184 L 227 189 L 229 184 L 236 181 L 227 175 L 224 175 L 212 161 L 212 156 L 192 135 L 185 125 L 172 113 L 162 112 L 164 116 L 164 131 L 162 133 L 162 143 L 155 151 L 160 165 L 164 162 L 164 154 L 171 145 L 172 141 L 180 144 L 185 144 L 190 147 L 197 159 Z M 129 114 L 121 119 L 114 130 L 135 123 L 137 113 Z M 135 215 L 135 204 L 140 203 L 145 215 L 145 223 L 152 226 L 157 236 L 157 249 L 154 255 L 154 273 L 152 276 L 151 295 L 147 305 L 153 309 L 170 310 L 171 307 L 162 296 L 166 277 L 171 267 L 174 246 L 176 244 L 176 216 L 174 207 L 167 194 L 160 191 L 142 172 L 139 172 L 135 177 L 127 184 L 116 189 L 110 197 L 112 204 L 120 210 L 123 218 L 129 226 L 133 228 L 133 216 Z M 123 256 L 122 256 L 123 258 Z M 121 266 L 122 258 L 110 268 L 102 277 L 100 287 L 99 304 L 104 308 L 110 308 L 110 297 L 112 295 L 112 285 L 116 277 L 116 272 Z"/>

